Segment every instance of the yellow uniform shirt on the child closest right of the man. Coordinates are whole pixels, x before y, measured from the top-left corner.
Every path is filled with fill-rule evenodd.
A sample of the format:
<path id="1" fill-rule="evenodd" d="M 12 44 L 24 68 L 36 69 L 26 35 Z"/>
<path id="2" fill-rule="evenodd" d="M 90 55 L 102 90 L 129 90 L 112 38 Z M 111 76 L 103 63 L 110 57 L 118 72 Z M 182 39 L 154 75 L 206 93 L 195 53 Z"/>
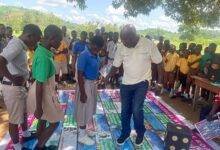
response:
<path id="1" fill-rule="evenodd" d="M 165 57 L 165 59 L 167 60 L 164 64 L 164 70 L 166 72 L 172 72 L 175 67 L 176 64 L 179 60 L 179 55 L 177 53 L 168 53 Z"/>

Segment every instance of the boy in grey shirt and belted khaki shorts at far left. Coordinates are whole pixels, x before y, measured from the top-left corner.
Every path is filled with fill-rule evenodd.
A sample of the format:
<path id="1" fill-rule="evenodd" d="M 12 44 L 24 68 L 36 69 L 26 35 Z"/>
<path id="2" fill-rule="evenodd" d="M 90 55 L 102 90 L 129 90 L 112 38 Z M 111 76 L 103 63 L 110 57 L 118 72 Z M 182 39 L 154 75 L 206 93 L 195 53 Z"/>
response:
<path id="1" fill-rule="evenodd" d="M 0 76 L 4 101 L 9 113 L 9 134 L 15 150 L 21 150 L 18 126 L 22 127 L 23 137 L 29 137 L 26 121 L 25 82 L 29 78 L 26 50 L 37 45 L 41 38 L 38 26 L 28 24 L 19 38 L 13 38 L 0 54 Z"/>

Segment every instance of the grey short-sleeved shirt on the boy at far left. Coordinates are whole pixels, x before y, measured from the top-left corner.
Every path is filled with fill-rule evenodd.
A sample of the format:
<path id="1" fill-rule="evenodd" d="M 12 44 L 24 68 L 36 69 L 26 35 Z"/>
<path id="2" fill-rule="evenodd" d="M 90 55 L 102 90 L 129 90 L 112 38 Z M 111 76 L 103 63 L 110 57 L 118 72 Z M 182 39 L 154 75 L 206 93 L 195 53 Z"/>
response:
<path id="1" fill-rule="evenodd" d="M 25 43 L 21 39 L 14 37 L 0 55 L 7 60 L 7 68 L 12 75 L 19 75 L 28 79 L 29 71 L 26 51 L 27 46 Z"/>

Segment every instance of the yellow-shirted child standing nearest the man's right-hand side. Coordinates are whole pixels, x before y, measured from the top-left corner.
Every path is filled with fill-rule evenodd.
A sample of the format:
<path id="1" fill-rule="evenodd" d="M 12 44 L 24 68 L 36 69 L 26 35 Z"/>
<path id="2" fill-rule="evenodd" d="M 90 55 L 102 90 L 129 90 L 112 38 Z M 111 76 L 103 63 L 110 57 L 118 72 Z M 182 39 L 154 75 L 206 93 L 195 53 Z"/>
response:
<path id="1" fill-rule="evenodd" d="M 164 65 L 164 88 L 171 90 L 170 97 L 174 95 L 174 82 L 176 75 L 176 64 L 179 59 L 179 55 L 176 53 L 176 48 L 174 45 L 171 45 L 169 53 L 165 57 L 165 65 Z"/>

